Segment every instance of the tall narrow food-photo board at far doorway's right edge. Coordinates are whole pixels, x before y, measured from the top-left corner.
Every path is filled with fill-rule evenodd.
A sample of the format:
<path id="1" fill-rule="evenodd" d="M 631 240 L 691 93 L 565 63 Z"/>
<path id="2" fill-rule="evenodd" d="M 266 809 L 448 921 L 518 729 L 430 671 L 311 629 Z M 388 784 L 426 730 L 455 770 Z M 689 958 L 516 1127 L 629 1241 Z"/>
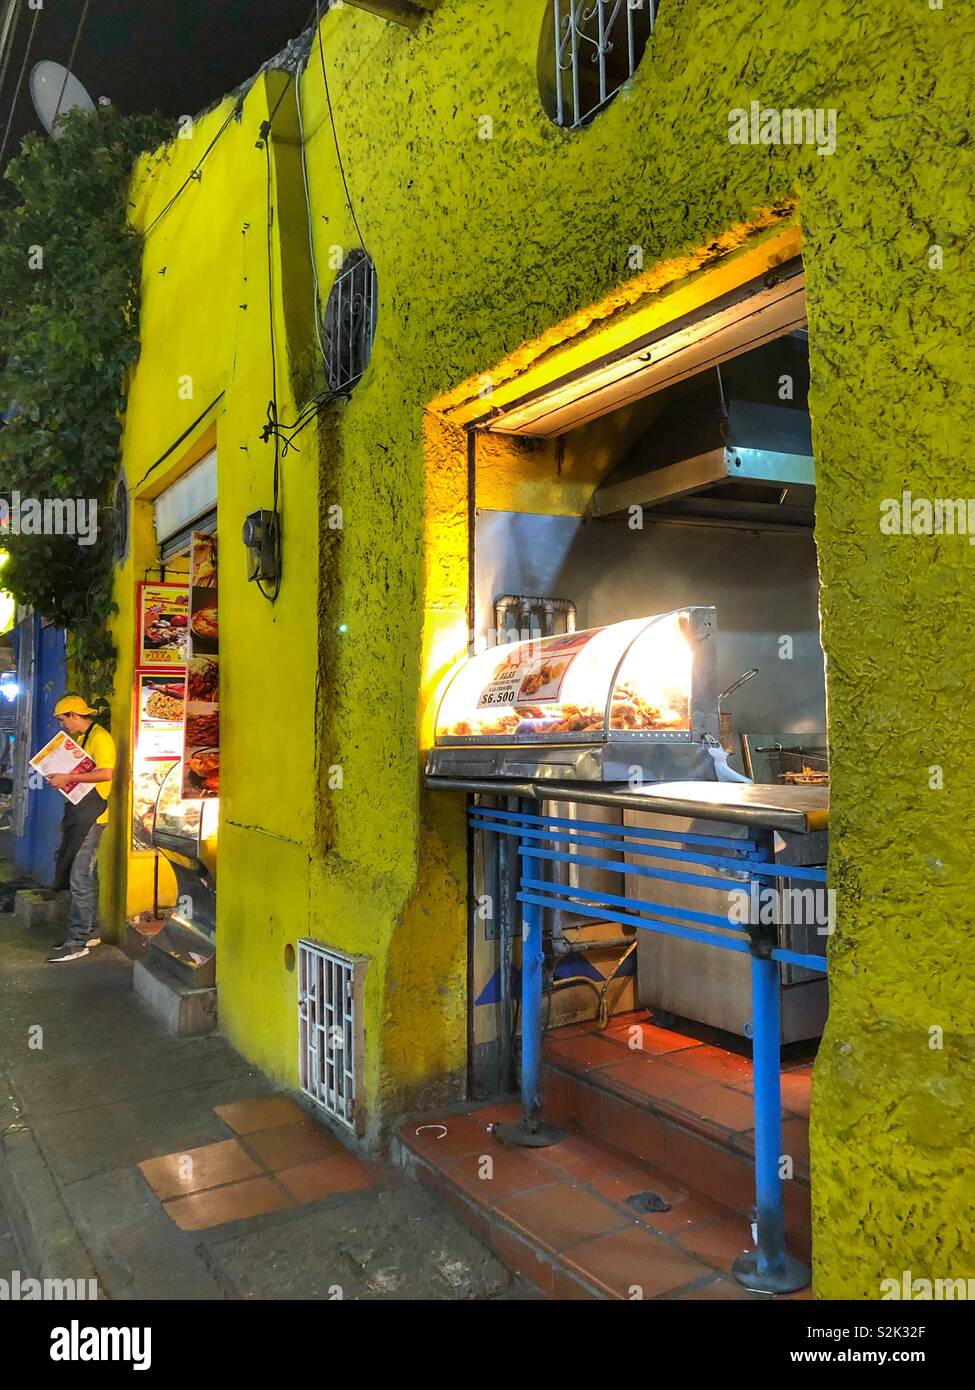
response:
<path id="1" fill-rule="evenodd" d="M 220 795 L 220 642 L 217 537 L 193 532 L 189 564 L 191 657 L 182 753 L 182 796 Z"/>

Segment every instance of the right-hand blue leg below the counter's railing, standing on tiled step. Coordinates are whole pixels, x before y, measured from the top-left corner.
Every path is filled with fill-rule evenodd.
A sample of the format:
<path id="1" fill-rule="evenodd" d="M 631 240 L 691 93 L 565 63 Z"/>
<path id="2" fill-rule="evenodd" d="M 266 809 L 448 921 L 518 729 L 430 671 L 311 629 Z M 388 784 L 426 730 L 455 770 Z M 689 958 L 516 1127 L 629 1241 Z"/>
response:
<path id="1" fill-rule="evenodd" d="M 786 1220 L 779 1176 L 782 1155 L 779 966 L 775 960 L 751 958 L 751 1008 L 758 1211 L 755 1268 L 759 1275 L 775 1275 L 786 1265 Z"/>

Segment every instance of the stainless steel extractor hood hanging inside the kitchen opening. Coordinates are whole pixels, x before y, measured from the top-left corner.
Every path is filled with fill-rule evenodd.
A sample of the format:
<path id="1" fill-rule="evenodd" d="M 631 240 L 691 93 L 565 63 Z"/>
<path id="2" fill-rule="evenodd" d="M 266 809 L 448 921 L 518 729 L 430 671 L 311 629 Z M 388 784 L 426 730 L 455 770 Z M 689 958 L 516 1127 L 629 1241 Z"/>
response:
<path id="1" fill-rule="evenodd" d="M 812 525 L 815 461 L 805 329 L 661 393 L 654 424 L 593 495 L 593 514 L 648 509 Z"/>

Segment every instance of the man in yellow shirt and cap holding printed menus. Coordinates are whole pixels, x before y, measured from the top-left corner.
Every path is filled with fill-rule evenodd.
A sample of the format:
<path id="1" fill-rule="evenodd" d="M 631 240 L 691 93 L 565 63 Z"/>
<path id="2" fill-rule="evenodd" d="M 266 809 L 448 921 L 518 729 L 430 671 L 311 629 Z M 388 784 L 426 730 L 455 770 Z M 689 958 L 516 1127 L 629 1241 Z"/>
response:
<path id="1" fill-rule="evenodd" d="M 56 773 L 51 787 L 92 783 L 95 791 L 79 802 L 67 802 L 61 820 L 61 844 L 54 866 L 54 888 L 71 888 L 67 938 L 54 947 L 49 960 L 76 960 L 96 947 L 99 917 L 99 841 L 108 824 L 108 796 L 115 767 L 115 744 L 107 728 L 95 723 L 95 713 L 81 695 L 65 695 L 54 706 L 64 733 L 79 744 L 95 763 L 90 773 Z"/>

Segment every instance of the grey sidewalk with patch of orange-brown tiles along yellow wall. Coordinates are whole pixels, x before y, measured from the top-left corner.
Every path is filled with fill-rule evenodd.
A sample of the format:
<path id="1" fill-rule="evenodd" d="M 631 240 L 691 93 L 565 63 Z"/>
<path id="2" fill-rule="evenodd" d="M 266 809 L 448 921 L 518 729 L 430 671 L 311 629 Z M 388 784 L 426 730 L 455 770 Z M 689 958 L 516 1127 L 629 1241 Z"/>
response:
<path id="1" fill-rule="evenodd" d="M 114 1300 L 538 1297 L 224 1038 L 164 1036 L 114 947 L 47 965 L 56 933 L 0 915 L 0 1202 L 29 1268 Z"/>

